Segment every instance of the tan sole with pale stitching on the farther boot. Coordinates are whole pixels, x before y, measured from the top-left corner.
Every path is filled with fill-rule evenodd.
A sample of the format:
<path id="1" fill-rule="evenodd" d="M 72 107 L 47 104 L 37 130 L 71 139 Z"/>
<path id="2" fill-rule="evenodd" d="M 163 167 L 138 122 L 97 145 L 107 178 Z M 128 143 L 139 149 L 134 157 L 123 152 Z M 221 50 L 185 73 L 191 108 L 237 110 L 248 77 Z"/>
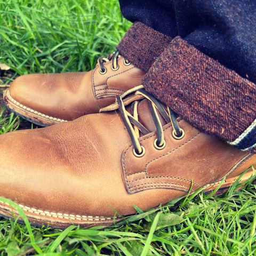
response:
<path id="1" fill-rule="evenodd" d="M 20 102 L 18 102 L 17 100 L 14 100 L 11 97 L 9 89 L 6 89 L 4 91 L 3 98 L 4 98 L 4 102 L 7 109 L 14 112 L 15 114 L 22 117 L 23 119 L 26 119 L 27 121 L 34 123 L 36 125 L 45 127 L 45 126 L 49 126 L 49 125 L 53 125 L 61 122 L 67 122 L 66 120 L 45 115 L 34 109 L 31 109 L 29 107 L 22 105 Z"/>

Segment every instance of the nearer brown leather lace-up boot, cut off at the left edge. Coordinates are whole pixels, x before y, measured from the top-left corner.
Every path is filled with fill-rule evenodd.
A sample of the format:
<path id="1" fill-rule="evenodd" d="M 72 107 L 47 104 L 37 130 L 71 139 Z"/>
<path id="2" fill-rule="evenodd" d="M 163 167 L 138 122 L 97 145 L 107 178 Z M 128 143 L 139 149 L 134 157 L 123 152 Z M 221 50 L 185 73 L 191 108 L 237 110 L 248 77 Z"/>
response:
<path id="1" fill-rule="evenodd" d="M 199 132 L 142 87 L 131 92 L 100 114 L 1 135 L 0 196 L 36 225 L 109 225 L 133 205 L 148 210 L 190 188 L 213 190 L 223 177 L 227 189 L 255 164 L 256 155 Z M 0 202 L 2 215 L 12 211 Z"/>

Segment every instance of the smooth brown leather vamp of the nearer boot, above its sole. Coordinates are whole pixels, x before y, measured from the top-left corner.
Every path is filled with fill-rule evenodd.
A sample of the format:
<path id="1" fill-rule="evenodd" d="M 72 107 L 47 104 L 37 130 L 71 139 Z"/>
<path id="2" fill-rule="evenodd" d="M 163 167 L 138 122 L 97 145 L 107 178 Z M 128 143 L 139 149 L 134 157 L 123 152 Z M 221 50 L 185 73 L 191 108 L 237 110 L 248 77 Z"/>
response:
<path id="1" fill-rule="evenodd" d="M 36 209 L 112 216 L 166 203 L 180 191 L 129 195 L 121 154 L 130 137 L 115 113 L 1 135 L 0 195 Z"/>

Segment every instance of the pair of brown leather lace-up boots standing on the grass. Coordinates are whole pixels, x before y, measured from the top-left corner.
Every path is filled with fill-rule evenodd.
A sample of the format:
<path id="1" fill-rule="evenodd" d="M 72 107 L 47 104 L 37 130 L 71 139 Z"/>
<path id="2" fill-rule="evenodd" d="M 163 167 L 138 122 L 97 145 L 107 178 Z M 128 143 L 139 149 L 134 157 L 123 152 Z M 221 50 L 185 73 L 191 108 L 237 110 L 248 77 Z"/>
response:
<path id="1" fill-rule="evenodd" d="M 147 93 L 143 75 L 115 52 L 87 73 L 15 79 L 7 107 L 49 127 L 0 136 L 0 196 L 36 225 L 110 225 L 134 205 L 148 210 L 190 189 L 210 191 L 224 177 L 227 189 L 256 162 Z M 12 212 L 0 201 L 0 214 Z"/>

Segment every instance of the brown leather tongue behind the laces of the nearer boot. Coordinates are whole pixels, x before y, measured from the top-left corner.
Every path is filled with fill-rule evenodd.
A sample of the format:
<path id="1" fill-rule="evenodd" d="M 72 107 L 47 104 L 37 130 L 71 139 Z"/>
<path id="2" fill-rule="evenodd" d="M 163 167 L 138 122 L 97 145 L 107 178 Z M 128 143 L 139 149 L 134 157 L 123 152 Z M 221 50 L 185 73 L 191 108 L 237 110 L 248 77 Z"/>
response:
<path id="1" fill-rule="evenodd" d="M 139 122 L 145 126 L 149 132 L 154 132 L 156 131 L 156 126 L 153 120 L 153 116 L 151 114 L 151 108 L 150 108 L 150 101 L 147 99 L 141 100 L 138 104 L 138 117 L 139 117 Z M 157 114 L 160 118 L 160 121 L 162 125 L 166 124 L 166 121 L 162 117 L 162 115 L 159 113 L 157 110 Z"/>

